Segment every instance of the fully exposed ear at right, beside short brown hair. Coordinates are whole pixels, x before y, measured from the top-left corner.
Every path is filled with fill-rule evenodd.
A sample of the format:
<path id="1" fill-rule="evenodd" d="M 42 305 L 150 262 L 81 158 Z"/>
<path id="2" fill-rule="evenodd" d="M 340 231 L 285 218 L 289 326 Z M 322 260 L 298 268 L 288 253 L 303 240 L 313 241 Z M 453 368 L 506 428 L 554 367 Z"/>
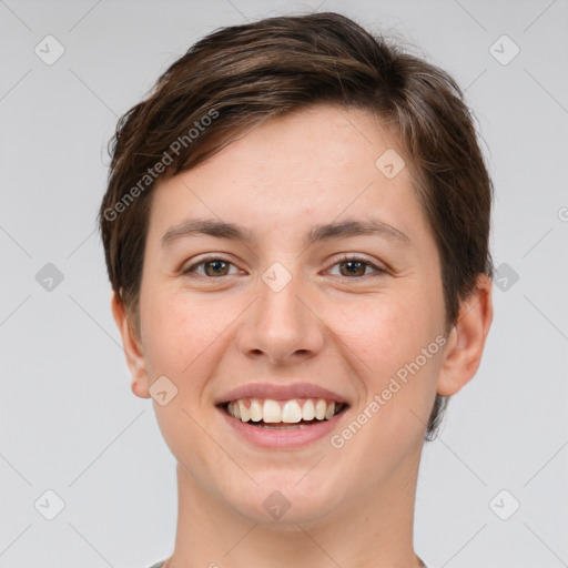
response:
<path id="1" fill-rule="evenodd" d="M 437 392 L 455 395 L 476 374 L 493 321 L 491 281 L 479 274 L 471 294 L 462 302 L 444 352 Z"/>

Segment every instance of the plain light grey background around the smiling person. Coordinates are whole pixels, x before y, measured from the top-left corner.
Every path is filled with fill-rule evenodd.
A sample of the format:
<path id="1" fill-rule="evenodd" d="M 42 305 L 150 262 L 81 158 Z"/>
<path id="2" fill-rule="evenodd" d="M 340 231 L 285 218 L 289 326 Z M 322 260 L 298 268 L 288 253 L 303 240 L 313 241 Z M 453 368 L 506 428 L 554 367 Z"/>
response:
<path id="1" fill-rule="evenodd" d="M 94 231 L 105 143 L 116 116 L 200 37 L 315 9 L 398 36 L 448 70 L 478 118 L 496 187 L 491 246 L 507 287 L 495 285 L 477 376 L 426 445 L 416 550 L 433 568 L 568 564 L 568 3 L 6 0 L 1 567 L 145 568 L 171 554 L 174 459 L 151 399 L 130 390 Z M 52 65 L 34 53 L 48 34 L 65 50 Z M 503 34 L 520 49 L 506 65 L 490 52 Z M 51 291 L 36 280 L 47 263 L 63 275 Z M 48 489 L 64 501 L 53 520 L 39 513 L 54 506 Z M 495 510 L 513 499 L 520 508 L 501 520 Z"/>

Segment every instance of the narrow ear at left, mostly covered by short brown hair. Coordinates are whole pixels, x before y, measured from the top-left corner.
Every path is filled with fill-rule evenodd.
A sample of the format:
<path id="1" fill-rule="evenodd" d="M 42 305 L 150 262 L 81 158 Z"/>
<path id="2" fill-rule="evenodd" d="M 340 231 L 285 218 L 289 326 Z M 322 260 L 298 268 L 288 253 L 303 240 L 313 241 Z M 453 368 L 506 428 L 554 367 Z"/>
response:
<path id="1" fill-rule="evenodd" d="M 132 376 L 132 392 L 141 398 L 150 398 L 150 382 L 148 379 L 142 344 L 132 328 L 124 303 L 116 296 L 114 291 L 112 292 L 111 305 L 114 322 L 116 322 L 116 326 L 122 335 L 122 346 Z"/>

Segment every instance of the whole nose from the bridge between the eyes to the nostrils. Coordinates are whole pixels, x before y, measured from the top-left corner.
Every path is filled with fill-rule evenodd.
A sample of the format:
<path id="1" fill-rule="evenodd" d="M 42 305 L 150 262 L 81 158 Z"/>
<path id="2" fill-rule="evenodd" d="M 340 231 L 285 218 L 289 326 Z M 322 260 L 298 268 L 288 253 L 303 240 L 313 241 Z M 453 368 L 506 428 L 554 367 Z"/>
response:
<path id="1" fill-rule="evenodd" d="M 310 356 L 323 344 L 317 317 L 306 305 L 306 283 L 297 271 L 273 263 L 260 277 L 257 300 L 243 321 L 240 348 L 286 362 L 298 354 Z"/>

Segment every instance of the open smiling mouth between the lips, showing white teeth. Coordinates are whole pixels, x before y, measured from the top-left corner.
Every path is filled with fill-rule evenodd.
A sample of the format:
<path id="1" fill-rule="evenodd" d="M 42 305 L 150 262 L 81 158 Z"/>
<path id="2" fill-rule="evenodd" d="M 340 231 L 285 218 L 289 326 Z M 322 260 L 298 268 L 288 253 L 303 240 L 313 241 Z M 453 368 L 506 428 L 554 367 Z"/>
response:
<path id="1" fill-rule="evenodd" d="M 311 428 L 348 408 L 346 403 L 326 398 L 237 398 L 217 406 L 235 420 L 271 430 Z"/>

